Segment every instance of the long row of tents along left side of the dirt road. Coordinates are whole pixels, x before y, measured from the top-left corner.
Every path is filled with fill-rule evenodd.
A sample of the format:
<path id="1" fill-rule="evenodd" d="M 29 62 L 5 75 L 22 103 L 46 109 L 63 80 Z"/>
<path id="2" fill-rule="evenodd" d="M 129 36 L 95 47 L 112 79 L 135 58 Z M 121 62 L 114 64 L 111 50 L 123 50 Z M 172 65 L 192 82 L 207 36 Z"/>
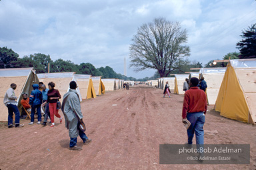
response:
<path id="1" fill-rule="evenodd" d="M 123 80 L 115 78 L 101 78 L 87 74 L 75 74 L 75 72 L 59 72 L 36 74 L 33 68 L 5 68 L 0 69 L 0 122 L 7 122 L 8 110 L 3 104 L 5 92 L 10 88 L 11 83 L 17 84 L 15 94 L 18 97 L 18 108 L 21 111 L 22 94 L 31 94 L 32 85 L 43 82 L 46 86 L 49 82 L 55 82 L 55 88 L 59 90 L 61 96 L 69 90 L 69 82 L 77 82 L 77 92 L 80 101 L 96 98 L 104 94 L 105 91 L 119 90 L 123 87 Z M 62 99 L 60 100 L 62 102 Z"/>

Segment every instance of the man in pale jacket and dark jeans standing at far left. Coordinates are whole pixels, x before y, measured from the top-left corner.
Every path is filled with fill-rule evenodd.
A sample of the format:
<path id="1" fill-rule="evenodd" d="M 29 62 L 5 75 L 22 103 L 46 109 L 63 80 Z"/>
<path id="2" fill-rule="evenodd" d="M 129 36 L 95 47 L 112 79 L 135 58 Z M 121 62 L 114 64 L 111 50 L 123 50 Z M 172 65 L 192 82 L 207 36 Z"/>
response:
<path id="1" fill-rule="evenodd" d="M 13 128 L 13 112 L 15 114 L 15 128 L 21 128 L 24 124 L 19 124 L 19 109 L 17 107 L 17 96 L 15 96 L 14 90 L 17 88 L 15 83 L 11 84 L 11 87 L 6 91 L 3 98 L 3 104 L 8 108 L 8 128 Z"/>

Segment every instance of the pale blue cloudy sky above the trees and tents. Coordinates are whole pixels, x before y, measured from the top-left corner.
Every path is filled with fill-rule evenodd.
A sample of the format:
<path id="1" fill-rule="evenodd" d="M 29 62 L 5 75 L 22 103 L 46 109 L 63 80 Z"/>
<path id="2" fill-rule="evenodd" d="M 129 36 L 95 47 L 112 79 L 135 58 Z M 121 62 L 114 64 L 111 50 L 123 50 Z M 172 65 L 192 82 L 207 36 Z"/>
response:
<path id="1" fill-rule="evenodd" d="M 49 54 L 75 64 L 111 66 L 144 78 L 155 70 L 129 68 L 129 44 L 138 27 L 163 17 L 188 31 L 189 60 L 206 64 L 238 52 L 243 29 L 256 23 L 255 0 L 0 0 L 0 46 L 20 57 Z"/>

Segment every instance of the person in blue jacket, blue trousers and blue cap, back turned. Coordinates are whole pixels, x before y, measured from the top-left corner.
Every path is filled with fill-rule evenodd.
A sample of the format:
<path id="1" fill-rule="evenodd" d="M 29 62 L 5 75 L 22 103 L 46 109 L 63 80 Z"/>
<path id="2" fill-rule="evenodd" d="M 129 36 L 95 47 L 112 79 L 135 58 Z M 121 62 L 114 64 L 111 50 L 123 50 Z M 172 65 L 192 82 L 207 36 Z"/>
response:
<path id="1" fill-rule="evenodd" d="M 33 84 L 33 91 L 29 96 L 29 104 L 31 106 L 31 122 L 29 125 L 34 124 L 35 119 L 35 109 L 37 109 L 37 124 L 41 124 L 42 116 L 41 116 L 41 104 L 43 100 L 42 92 L 39 90 L 38 84 Z"/>

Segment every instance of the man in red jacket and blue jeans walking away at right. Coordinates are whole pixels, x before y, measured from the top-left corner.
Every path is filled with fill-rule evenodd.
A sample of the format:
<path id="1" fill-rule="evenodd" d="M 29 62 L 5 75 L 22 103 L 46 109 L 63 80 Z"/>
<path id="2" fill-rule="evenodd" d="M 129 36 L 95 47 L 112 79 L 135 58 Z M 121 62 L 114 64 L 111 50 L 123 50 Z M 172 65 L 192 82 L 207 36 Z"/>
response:
<path id="1" fill-rule="evenodd" d="M 189 82 L 190 89 L 185 92 L 183 100 L 182 118 L 189 120 L 191 126 L 187 129 L 188 144 L 192 144 L 192 140 L 196 137 L 197 145 L 203 144 L 203 125 L 205 124 L 205 114 L 207 111 L 207 98 L 203 90 L 197 85 L 198 78 L 191 78 Z"/>

